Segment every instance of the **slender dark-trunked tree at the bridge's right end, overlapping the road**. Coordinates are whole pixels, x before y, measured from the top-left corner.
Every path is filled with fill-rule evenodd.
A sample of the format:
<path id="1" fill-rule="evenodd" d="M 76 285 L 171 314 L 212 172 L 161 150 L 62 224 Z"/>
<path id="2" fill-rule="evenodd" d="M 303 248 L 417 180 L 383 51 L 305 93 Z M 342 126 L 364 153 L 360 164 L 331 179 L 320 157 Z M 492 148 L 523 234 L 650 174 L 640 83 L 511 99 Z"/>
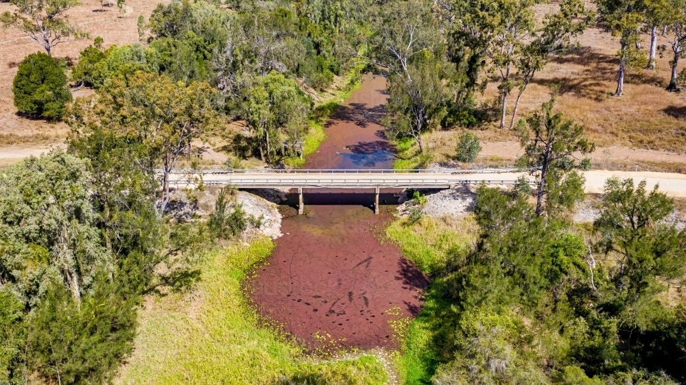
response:
<path id="1" fill-rule="evenodd" d="M 520 120 L 517 136 L 524 155 L 519 164 L 539 172 L 539 187 L 536 195 L 536 214 L 545 209 L 556 210 L 562 206 L 571 208 L 577 200 L 583 199 L 583 178 L 572 171 L 575 166 L 573 153 L 587 154 L 595 151 L 595 145 L 584 135 L 584 127 L 553 113 L 557 92 L 541 106 Z M 570 172 L 571 171 L 571 172 Z M 568 174 L 568 175 L 567 175 Z"/>

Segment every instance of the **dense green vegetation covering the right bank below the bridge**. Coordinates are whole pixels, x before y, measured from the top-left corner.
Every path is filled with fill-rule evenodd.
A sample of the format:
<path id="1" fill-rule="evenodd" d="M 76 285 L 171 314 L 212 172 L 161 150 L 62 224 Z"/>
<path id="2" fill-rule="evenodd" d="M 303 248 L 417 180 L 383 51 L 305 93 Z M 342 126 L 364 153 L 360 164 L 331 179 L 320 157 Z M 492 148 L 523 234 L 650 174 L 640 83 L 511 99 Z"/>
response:
<path id="1" fill-rule="evenodd" d="M 592 226 L 486 187 L 466 223 L 399 220 L 389 236 L 434 276 L 399 360 L 405 381 L 682 383 L 686 309 L 672 285 L 686 233 L 665 221 L 673 204 L 609 179 Z"/>

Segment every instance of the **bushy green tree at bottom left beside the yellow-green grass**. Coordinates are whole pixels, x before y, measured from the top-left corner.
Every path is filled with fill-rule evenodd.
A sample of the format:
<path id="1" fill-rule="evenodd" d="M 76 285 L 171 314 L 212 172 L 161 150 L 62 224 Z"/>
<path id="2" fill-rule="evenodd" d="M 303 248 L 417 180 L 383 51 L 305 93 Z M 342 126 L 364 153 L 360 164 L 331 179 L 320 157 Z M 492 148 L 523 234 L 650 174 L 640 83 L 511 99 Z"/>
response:
<path id="1" fill-rule="evenodd" d="M 49 288 L 27 324 L 27 367 L 54 384 L 107 384 L 133 347 L 137 297 L 99 280 L 78 303 Z"/>

